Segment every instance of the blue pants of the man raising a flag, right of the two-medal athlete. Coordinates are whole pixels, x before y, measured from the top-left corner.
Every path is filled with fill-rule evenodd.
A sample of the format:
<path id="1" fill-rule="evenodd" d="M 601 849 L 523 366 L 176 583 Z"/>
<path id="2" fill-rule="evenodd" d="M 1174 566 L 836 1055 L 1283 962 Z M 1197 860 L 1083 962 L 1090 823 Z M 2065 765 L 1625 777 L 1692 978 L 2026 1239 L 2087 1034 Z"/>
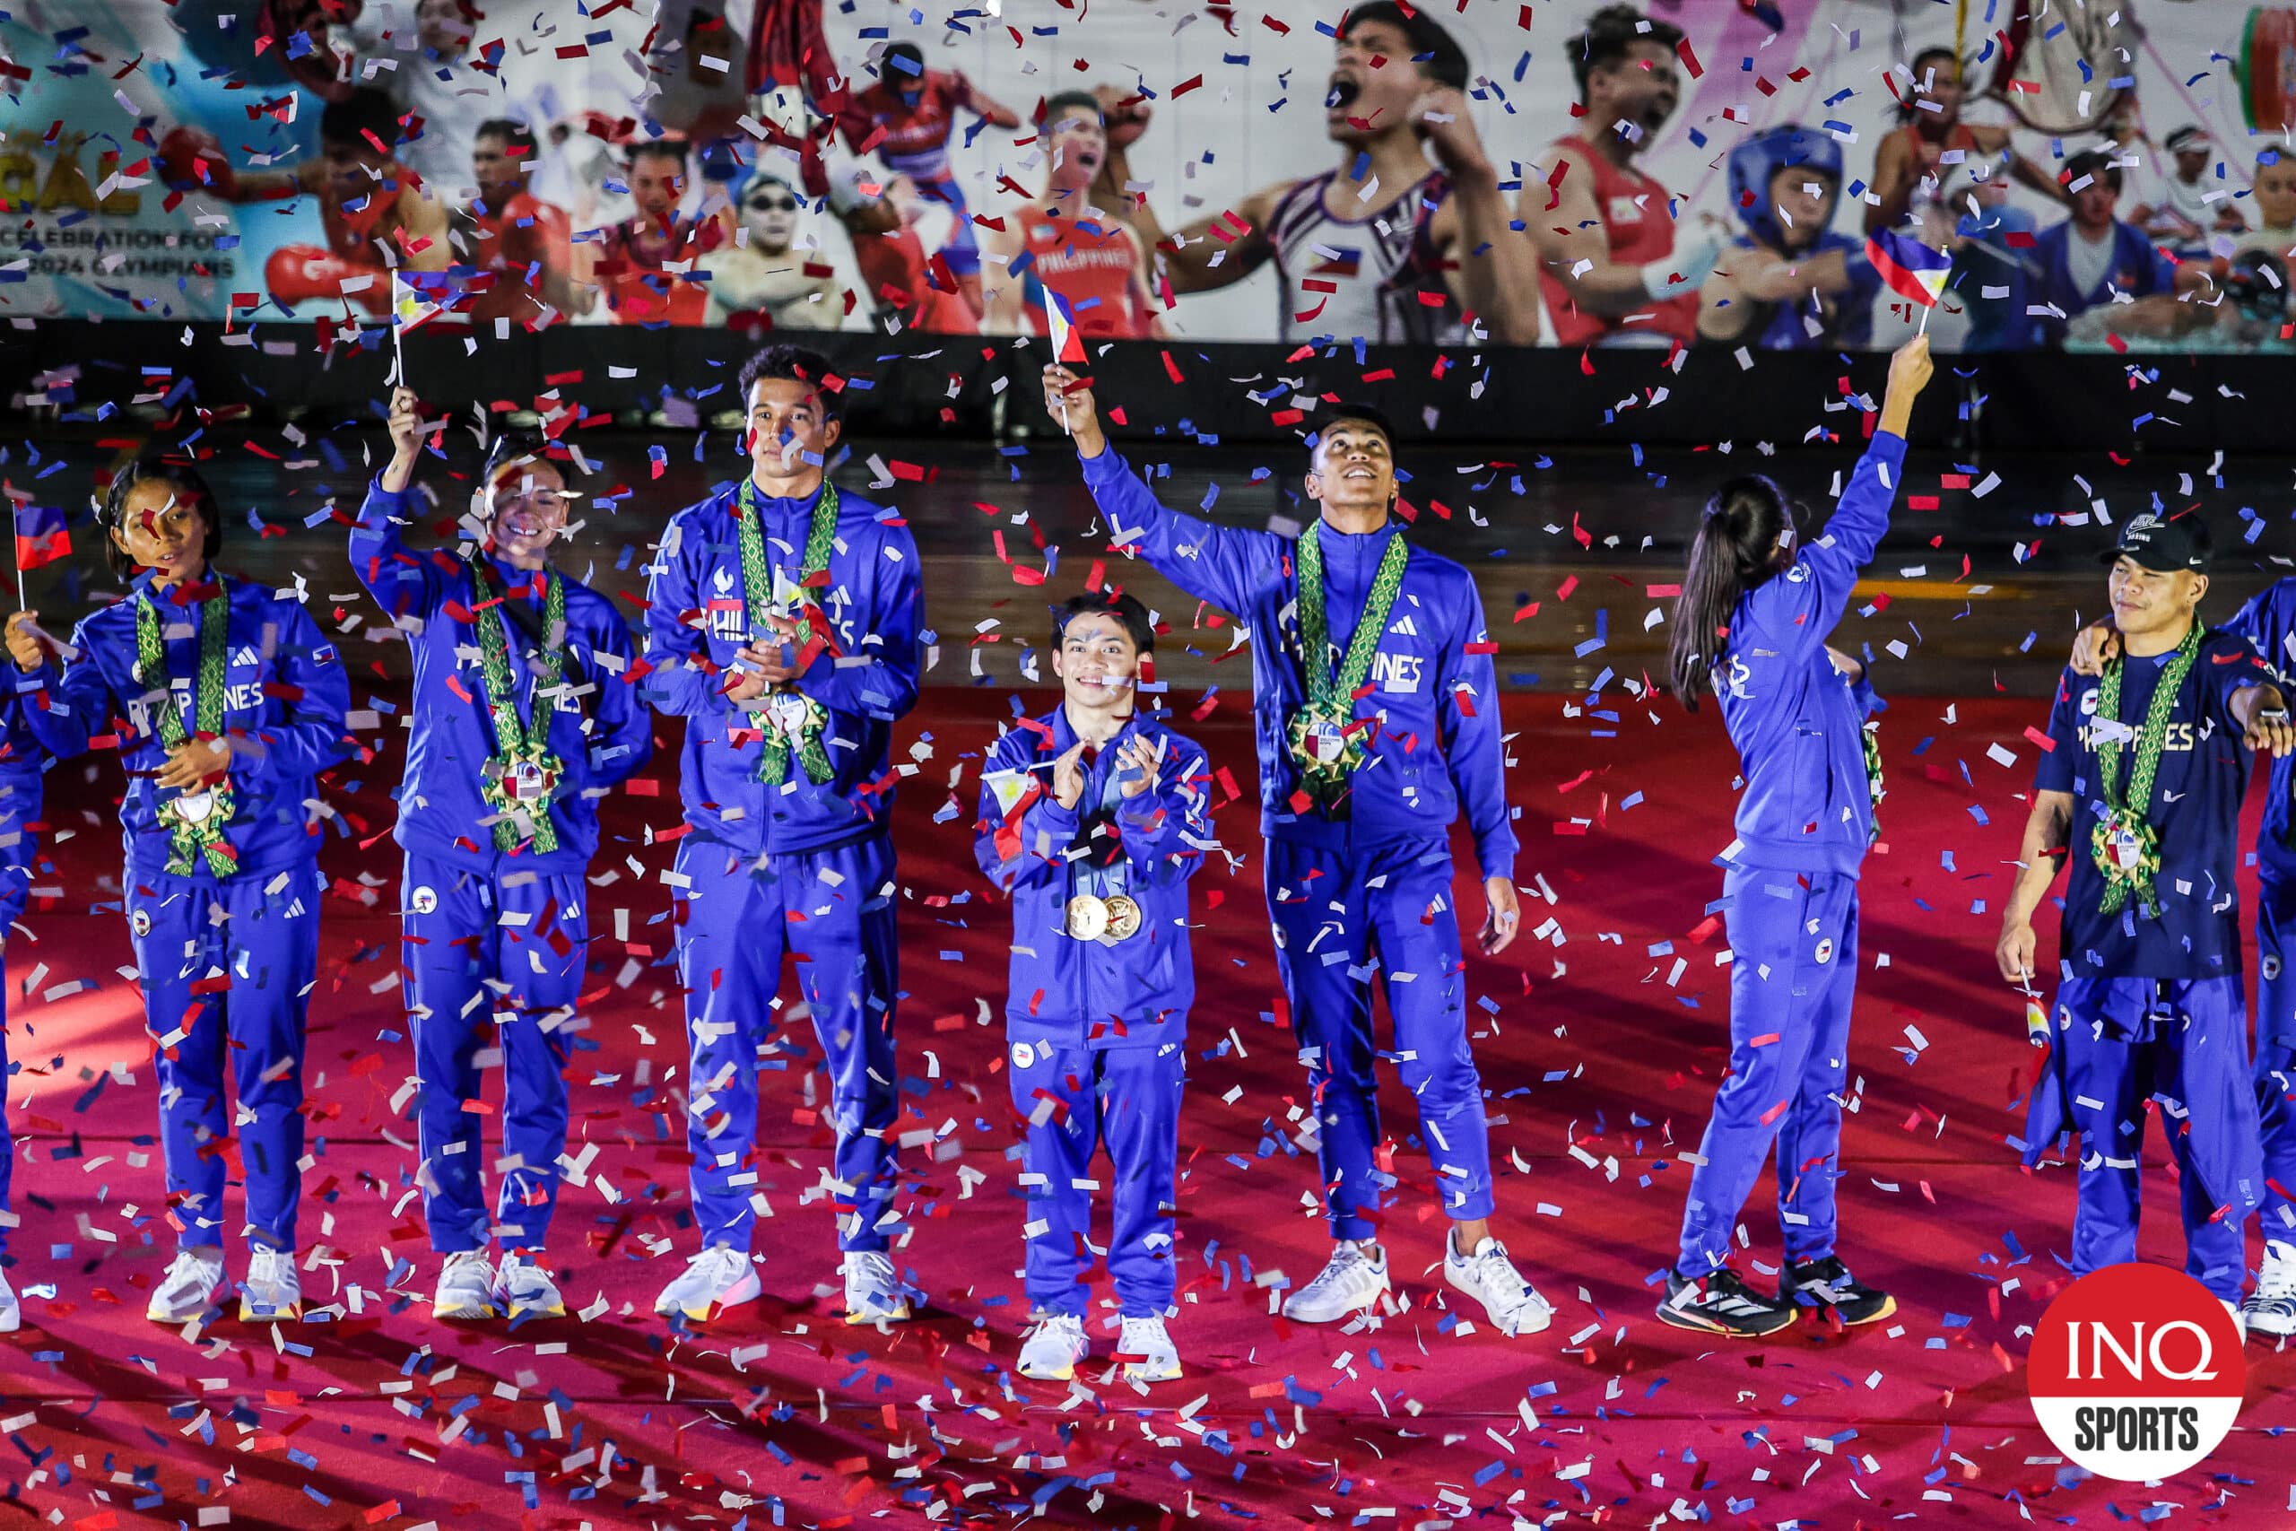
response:
<path id="1" fill-rule="evenodd" d="M 1332 852 L 1270 840 L 1267 909 L 1277 973 L 1316 1090 L 1316 1161 L 1332 1237 L 1375 1237 L 1380 1189 L 1394 1184 L 1375 1161 L 1373 1058 L 1391 1058 L 1419 1102 L 1444 1212 L 1458 1221 L 1490 1217 L 1490 1136 L 1467 1047 L 1449 847 L 1414 840 Z M 1373 985 L 1394 1021 L 1389 1051 L 1373 1044 Z"/>

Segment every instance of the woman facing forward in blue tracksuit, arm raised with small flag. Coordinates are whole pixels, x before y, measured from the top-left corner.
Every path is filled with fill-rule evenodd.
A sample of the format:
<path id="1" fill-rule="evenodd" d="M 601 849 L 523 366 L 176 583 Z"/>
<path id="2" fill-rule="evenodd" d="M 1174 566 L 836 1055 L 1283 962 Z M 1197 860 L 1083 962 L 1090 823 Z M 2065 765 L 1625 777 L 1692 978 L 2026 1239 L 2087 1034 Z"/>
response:
<path id="1" fill-rule="evenodd" d="M 422 427 L 404 388 L 390 427 L 395 457 L 358 510 L 351 572 L 406 634 L 413 656 L 413 725 L 393 833 L 406 852 L 402 966 L 422 1081 L 422 1217 L 432 1249 L 448 1256 L 432 1313 L 558 1315 L 558 1288 L 535 1256 L 549 1237 L 567 1138 L 567 1042 L 590 950 L 583 872 L 597 849 L 599 799 L 652 755 L 652 714 L 636 693 L 636 645 L 622 613 L 549 569 L 567 500 L 542 443 L 510 436 L 489 454 L 482 551 L 409 553 L 400 526 L 422 510 L 409 489 Z M 507 716 L 487 679 L 489 652 L 507 663 Z M 542 730 L 533 728 L 537 709 Z M 517 737 L 505 739 L 503 723 Z M 517 780 L 512 753 L 530 741 L 542 744 L 549 780 L 528 774 L 540 785 L 533 801 L 501 790 L 489 796 L 489 778 Z M 510 803 L 517 810 L 505 810 Z M 482 1056 L 503 1067 L 491 1214 L 480 1187 L 484 1118 L 468 1109 L 482 1104 Z M 496 1237 L 501 1272 L 487 1253 Z"/>

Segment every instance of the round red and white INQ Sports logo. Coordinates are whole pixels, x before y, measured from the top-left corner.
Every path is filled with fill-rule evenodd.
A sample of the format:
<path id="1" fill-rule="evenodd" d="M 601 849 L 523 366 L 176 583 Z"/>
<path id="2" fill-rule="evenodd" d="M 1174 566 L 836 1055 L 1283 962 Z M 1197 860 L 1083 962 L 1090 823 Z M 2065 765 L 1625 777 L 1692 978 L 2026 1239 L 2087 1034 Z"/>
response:
<path id="1" fill-rule="evenodd" d="M 2110 1265 L 2064 1288 L 2025 1359 L 2048 1439 L 2122 1483 L 2204 1460 L 2232 1430 L 2245 1384 L 2232 1311 L 2165 1265 Z"/>

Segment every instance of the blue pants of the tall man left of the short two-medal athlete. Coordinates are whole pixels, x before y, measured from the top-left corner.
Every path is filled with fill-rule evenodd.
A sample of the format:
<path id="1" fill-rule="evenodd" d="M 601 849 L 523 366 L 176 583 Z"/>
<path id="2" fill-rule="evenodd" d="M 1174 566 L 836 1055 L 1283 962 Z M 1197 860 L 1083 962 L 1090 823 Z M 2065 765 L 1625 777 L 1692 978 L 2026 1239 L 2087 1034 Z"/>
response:
<path id="1" fill-rule="evenodd" d="M 884 1249 L 893 1205 L 893 840 L 870 836 L 824 852 L 744 856 L 687 836 L 677 842 L 677 971 L 687 992 L 687 1148 L 703 1239 L 748 1246 L 758 1184 L 758 1047 L 774 1035 L 781 957 L 797 982 L 829 1070 L 838 1134 L 838 1249 Z"/>

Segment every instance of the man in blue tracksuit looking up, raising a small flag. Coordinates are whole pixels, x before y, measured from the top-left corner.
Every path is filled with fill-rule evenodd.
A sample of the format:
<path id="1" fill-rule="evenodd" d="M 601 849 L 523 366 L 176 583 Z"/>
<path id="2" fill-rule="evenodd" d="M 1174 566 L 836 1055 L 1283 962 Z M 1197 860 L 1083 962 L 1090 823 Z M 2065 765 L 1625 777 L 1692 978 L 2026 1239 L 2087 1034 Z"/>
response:
<path id="1" fill-rule="evenodd" d="M 1306 494 L 1322 510 L 1313 553 L 1304 539 L 1212 526 L 1159 505 L 1109 450 L 1091 393 L 1065 367 L 1045 370 L 1045 409 L 1054 420 L 1065 411 L 1114 542 L 1143 551 L 1157 574 L 1235 613 L 1254 636 L 1267 907 L 1316 1088 L 1334 1239 L 1329 1265 L 1290 1295 L 1286 1315 L 1332 1322 L 1389 1290 L 1375 1244 L 1380 1191 L 1394 1184 L 1373 1159 L 1380 1120 L 1368 978 L 1378 973 L 1394 1015 L 1396 1070 L 1419 1099 L 1428 1159 L 1456 1223 L 1444 1279 L 1479 1297 L 1502 1334 L 1545 1329 L 1552 1308 L 1488 1228 L 1490 1145 L 1451 904 L 1449 826 L 1465 808 L 1490 902 L 1479 941 L 1495 955 L 1513 939 L 1515 833 L 1474 576 L 1401 542 L 1394 434 L 1368 406 L 1336 411 L 1313 441 Z M 1387 565 L 1391 542 L 1401 544 L 1401 583 L 1380 574 L 1396 567 Z M 1304 555 L 1320 558 L 1322 581 L 1302 581 Z M 1352 650 L 1359 617 L 1378 604 L 1387 615 L 1368 634 L 1371 647 Z M 1318 615 L 1320 673 L 1302 663 L 1300 636 Z"/>

